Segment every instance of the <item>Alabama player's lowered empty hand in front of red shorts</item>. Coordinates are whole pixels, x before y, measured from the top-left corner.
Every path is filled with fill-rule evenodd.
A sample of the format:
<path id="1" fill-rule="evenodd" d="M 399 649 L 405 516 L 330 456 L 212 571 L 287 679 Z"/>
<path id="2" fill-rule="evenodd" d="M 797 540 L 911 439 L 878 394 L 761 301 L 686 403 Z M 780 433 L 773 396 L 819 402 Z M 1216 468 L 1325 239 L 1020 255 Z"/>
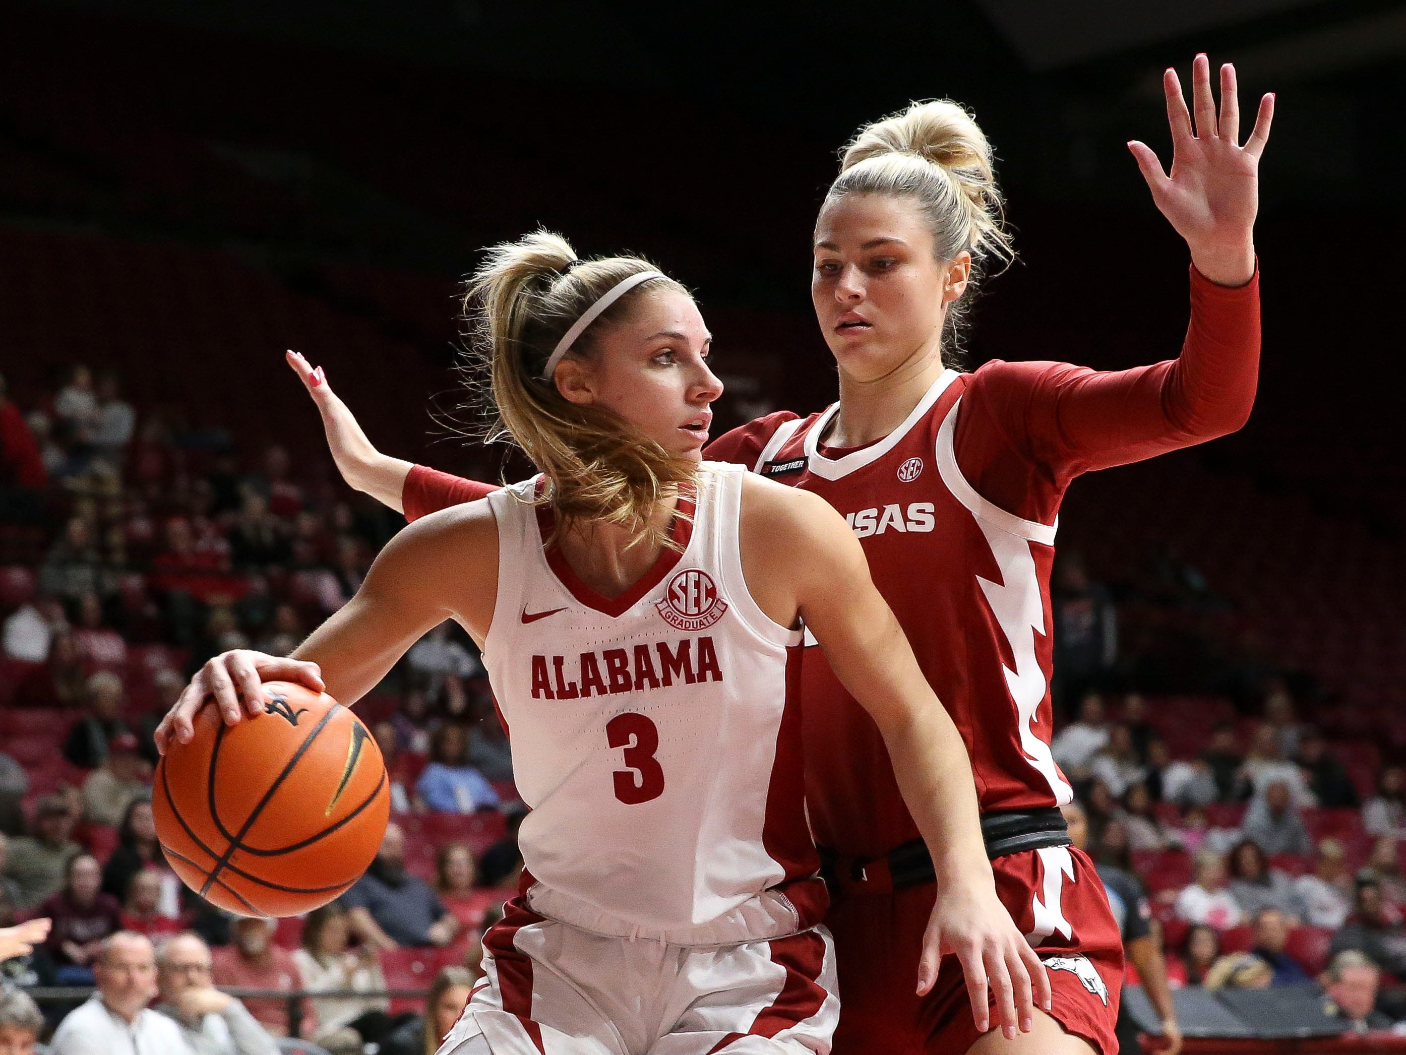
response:
<path id="1" fill-rule="evenodd" d="M 1015 1040 L 1017 1031 L 1035 1028 L 1036 1006 L 1050 1009 L 1053 996 L 1045 965 L 1017 930 L 988 878 L 984 883 L 943 886 L 922 938 L 920 996 L 931 992 L 942 957 L 948 955 L 962 964 L 977 1032 L 993 1024 L 988 992 L 1007 1040 Z"/>

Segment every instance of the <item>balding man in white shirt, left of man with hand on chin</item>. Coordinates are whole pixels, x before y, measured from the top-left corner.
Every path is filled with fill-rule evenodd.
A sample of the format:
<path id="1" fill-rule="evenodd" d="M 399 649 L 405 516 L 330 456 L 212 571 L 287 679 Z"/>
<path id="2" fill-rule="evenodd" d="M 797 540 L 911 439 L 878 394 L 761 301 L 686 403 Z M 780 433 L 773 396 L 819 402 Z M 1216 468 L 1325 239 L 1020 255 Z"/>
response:
<path id="1" fill-rule="evenodd" d="M 110 935 L 93 973 L 97 992 L 59 1024 L 52 1055 L 191 1055 L 176 1024 L 146 1007 L 156 996 L 156 957 L 146 935 Z"/>

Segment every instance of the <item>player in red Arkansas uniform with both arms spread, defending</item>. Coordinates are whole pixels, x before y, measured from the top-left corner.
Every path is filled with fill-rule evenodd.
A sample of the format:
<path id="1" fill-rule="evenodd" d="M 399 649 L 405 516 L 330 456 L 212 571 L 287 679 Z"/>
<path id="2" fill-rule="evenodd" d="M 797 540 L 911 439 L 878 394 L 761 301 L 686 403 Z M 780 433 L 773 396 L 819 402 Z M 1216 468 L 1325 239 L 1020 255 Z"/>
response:
<path id="1" fill-rule="evenodd" d="M 862 129 L 815 225 L 813 297 L 839 367 L 839 402 L 773 414 L 721 436 L 709 457 L 824 495 L 851 522 L 873 577 L 972 755 L 987 852 L 1002 902 L 1049 969 L 1049 1014 L 1019 1037 L 987 1032 L 943 965 L 917 997 L 897 973 L 922 937 L 932 868 L 897 795 L 873 723 L 818 650 L 803 664 L 807 795 L 838 888 L 841 1055 L 1088 1052 L 1114 1055 L 1122 978 L 1118 927 L 1057 807 L 1071 799 L 1050 757 L 1049 577 L 1059 505 L 1080 473 L 1239 429 L 1260 352 L 1253 246 L 1258 160 L 1274 100 L 1240 145 L 1234 70 L 1219 113 L 1206 56 L 1192 114 L 1164 75 L 1171 173 L 1129 149 L 1191 250 L 1191 324 L 1181 356 L 1121 373 L 1067 363 L 943 362 L 960 298 L 983 260 L 1005 256 L 990 148 L 950 103 L 914 106 Z M 349 482 L 413 519 L 485 485 L 371 447 L 321 373 L 291 360 L 328 425 Z M 1174 1044 L 1175 1023 L 1166 1024 Z"/>

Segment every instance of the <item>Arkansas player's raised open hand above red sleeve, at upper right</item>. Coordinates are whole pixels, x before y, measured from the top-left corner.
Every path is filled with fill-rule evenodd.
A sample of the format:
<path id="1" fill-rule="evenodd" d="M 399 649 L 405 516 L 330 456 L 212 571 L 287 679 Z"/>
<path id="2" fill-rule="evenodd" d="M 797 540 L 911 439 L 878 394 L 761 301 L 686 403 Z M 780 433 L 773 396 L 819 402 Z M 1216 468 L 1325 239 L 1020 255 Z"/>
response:
<path id="1" fill-rule="evenodd" d="M 1191 65 L 1191 111 L 1177 70 L 1163 73 L 1161 84 L 1171 125 L 1171 173 L 1163 172 L 1146 143 L 1135 139 L 1128 149 L 1137 159 L 1157 208 L 1191 246 L 1197 270 L 1222 286 L 1244 284 L 1254 274 L 1260 155 L 1274 121 L 1274 94 L 1260 100 L 1254 128 L 1241 146 L 1234 66 L 1220 68 L 1219 113 L 1211 93 L 1211 60 L 1205 55 Z"/>

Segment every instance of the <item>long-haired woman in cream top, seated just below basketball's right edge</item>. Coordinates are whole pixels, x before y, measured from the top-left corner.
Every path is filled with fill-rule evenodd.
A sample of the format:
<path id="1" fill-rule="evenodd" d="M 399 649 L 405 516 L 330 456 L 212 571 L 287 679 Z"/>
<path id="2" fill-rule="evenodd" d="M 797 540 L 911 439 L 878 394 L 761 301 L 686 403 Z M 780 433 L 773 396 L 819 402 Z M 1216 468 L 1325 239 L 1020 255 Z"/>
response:
<path id="1" fill-rule="evenodd" d="M 308 913 L 302 948 L 294 950 L 292 961 L 309 993 L 385 989 L 375 948 L 363 944 L 352 951 L 350 938 L 347 912 L 336 902 Z M 380 1044 L 404 1021 L 391 1018 L 387 1013 L 391 1002 L 384 996 L 323 996 L 314 997 L 311 1003 L 318 1016 L 312 1040 L 332 1052 L 361 1052 L 367 1044 Z"/>

